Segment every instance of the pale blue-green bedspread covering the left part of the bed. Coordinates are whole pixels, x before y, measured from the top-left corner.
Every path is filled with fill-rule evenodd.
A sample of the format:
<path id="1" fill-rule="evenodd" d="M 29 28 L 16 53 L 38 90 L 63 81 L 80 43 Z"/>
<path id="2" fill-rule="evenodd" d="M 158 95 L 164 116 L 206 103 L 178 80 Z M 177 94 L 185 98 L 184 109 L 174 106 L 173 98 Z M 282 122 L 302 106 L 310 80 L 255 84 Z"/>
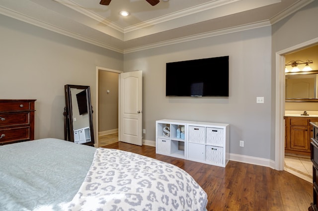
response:
<path id="1" fill-rule="evenodd" d="M 43 139 L 0 146 L 0 211 L 62 211 L 81 186 L 96 148 Z"/>

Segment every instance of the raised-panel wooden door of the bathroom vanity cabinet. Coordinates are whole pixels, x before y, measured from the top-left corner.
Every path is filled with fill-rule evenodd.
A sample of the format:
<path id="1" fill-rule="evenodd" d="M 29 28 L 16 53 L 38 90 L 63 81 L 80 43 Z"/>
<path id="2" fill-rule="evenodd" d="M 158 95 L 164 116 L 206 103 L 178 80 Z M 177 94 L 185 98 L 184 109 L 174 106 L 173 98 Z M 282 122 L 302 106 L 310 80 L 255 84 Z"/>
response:
<path id="1" fill-rule="evenodd" d="M 308 127 L 290 127 L 291 142 L 290 148 L 297 150 L 309 150 Z"/>

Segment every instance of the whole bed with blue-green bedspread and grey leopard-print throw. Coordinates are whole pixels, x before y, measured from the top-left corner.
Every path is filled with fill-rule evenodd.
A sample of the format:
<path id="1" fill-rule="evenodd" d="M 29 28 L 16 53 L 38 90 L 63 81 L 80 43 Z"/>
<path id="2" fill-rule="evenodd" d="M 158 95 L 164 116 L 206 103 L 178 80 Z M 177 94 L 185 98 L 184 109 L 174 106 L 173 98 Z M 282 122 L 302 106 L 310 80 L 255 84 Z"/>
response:
<path id="1" fill-rule="evenodd" d="M 0 211 L 206 211 L 182 169 L 58 139 L 0 146 Z"/>

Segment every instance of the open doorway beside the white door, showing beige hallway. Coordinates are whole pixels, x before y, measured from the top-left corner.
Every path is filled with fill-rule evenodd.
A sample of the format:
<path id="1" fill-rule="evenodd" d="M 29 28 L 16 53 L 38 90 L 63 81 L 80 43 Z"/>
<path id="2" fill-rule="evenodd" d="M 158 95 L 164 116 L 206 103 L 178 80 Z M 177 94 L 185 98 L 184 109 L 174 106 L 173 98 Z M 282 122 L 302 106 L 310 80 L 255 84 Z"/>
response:
<path id="1" fill-rule="evenodd" d="M 98 147 L 118 141 L 118 80 L 122 71 L 96 67 Z"/>

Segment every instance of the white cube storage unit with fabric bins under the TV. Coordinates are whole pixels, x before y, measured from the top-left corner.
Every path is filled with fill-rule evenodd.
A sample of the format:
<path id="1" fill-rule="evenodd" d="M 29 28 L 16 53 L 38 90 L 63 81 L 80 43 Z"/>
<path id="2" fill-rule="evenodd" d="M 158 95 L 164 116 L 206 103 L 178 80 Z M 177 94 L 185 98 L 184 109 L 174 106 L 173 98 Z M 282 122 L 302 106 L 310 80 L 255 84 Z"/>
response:
<path id="1" fill-rule="evenodd" d="M 177 130 L 184 127 L 184 136 Z M 163 129 L 169 129 L 165 133 Z M 230 125 L 182 120 L 156 121 L 156 153 L 225 167 L 229 162 Z"/>

